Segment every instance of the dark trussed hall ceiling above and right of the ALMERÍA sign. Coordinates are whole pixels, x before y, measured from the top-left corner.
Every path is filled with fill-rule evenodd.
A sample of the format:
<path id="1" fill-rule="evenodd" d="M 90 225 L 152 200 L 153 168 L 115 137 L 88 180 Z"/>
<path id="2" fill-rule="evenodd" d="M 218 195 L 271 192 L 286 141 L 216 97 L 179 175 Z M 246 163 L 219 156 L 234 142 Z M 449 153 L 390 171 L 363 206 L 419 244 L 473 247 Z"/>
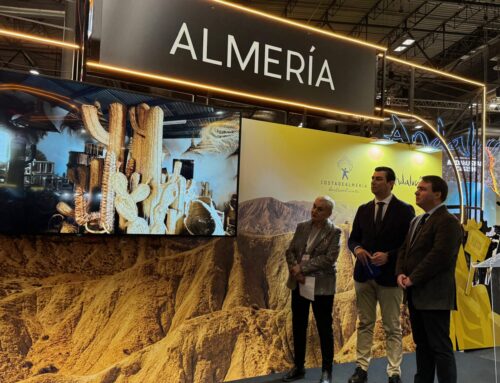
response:
<path id="1" fill-rule="evenodd" d="M 388 53 L 469 73 L 484 51 L 497 57 L 500 2 L 423 0 L 234 0 L 314 27 L 366 40 Z M 403 45 L 403 42 L 414 40 Z M 400 48 L 398 47 L 406 47 Z M 476 58 L 476 60 L 474 59 Z M 481 67 L 482 69 L 482 67 Z"/>

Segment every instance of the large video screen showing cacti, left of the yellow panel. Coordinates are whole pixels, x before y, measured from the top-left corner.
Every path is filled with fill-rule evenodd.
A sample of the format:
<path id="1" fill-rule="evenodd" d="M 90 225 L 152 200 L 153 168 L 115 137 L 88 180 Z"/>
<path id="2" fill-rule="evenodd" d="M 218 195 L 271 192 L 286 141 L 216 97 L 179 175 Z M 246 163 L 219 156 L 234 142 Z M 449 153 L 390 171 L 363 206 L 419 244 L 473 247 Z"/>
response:
<path id="1" fill-rule="evenodd" d="M 0 71 L 0 232 L 235 235 L 240 121 Z"/>

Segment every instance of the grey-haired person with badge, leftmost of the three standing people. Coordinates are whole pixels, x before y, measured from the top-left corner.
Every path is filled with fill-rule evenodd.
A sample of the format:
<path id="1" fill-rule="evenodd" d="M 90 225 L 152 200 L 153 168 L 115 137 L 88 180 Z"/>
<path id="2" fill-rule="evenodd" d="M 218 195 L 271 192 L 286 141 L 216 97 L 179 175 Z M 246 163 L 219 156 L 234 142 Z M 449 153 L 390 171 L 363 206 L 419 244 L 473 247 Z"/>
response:
<path id="1" fill-rule="evenodd" d="M 297 225 L 286 251 L 290 271 L 287 287 L 292 290 L 294 367 L 283 376 L 284 382 L 302 379 L 305 375 L 306 335 L 311 304 L 323 359 L 320 383 L 332 382 L 332 310 L 335 267 L 340 249 L 340 229 L 329 219 L 333 207 L 334 202 L 330 197 L 316 198 L 311 210 L 311 219 Z M 312 301 L 300 291 L 299 285 L 304 285 L 306 278 L 309 278 L 308 283 L 314 283 Z"/>

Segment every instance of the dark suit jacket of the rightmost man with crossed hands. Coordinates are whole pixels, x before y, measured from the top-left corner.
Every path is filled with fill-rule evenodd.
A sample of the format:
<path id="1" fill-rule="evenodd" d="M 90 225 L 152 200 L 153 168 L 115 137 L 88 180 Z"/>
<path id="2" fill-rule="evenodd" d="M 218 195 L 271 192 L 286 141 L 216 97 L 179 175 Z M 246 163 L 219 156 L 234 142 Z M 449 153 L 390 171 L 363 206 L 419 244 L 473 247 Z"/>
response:
<path id="1" fill-rule="evenodd" d="M 413 282 L 413 305 L 417 310 L 455 309 L 455 265 L 463 239 L 460 222 L 441 206 L 427 219 L 413 246 L 411 231 L 399 251 L 396 273 Z"/>

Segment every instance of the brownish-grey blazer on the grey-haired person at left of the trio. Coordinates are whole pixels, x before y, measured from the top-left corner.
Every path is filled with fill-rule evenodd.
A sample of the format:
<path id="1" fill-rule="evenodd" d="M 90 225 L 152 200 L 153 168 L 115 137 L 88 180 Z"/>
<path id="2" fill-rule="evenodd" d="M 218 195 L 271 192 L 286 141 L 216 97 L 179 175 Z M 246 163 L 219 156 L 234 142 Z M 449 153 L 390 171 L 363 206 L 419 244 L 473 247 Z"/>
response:
<path id="1" fill-rule="evenodd" d="M 305 254 L 307 239 L 312 229 L 312 221 L 301 222 L 297 225 L 292 242 L 286 251 L 288 267 L 300 263 Z M 335 294 L 336 263 L 340 251 L 340 229 L 332 221 L 327 220 L 325 226 L 316 236 L 309 261 L 301 266 L 305 276 L 316 277 L 314 285 L 315 295 Z M 287 286 L 290 289 L 297 287 L 297 281 L 288 277 Z"/>

